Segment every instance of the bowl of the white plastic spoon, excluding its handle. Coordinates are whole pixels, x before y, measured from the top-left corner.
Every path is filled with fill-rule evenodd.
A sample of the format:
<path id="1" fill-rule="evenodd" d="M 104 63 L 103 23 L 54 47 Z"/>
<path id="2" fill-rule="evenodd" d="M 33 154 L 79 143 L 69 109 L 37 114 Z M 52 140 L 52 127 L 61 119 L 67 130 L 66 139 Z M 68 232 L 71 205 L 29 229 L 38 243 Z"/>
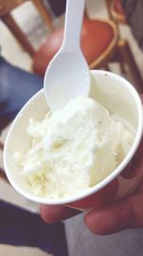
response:
<path id="1" fill-rule="evenodd" d="M 59 109 L 77 96 L 90 93 L 90 72 L 82 53 L 58 53 L 46 72 L 45 94 L 52 110 Z"/>

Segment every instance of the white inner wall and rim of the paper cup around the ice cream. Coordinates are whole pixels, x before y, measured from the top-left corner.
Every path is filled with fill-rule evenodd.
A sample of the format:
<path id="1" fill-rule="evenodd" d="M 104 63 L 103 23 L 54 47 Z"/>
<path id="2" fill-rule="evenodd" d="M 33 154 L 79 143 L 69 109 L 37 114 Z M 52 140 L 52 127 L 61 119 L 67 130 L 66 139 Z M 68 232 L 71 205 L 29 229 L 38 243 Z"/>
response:
<path id="1" fill-rule="evenodd" d="M 99 104 L 106 107 L 111 113 L 124 118 L 134 128 L 135 138 L 131 151 L 111 175 L 92 187 L 92 189 L 85 191 L 82 195 L 61 199 L 32 196 L 26 180 L 21 175 L 20 167 L 14 160 L 13 154 L 16 151 L 28 151 L 31 147 L 31 137 L 27 133 L 30 119 L 33 118 L 36 121 L 42 121 L 46 113 L 50 110 L 46 103 L 44 90 L 42 89 L 31 98 L 16 116 L 10 127 L 4 149 L 4 165 L 10 183 L 26 198 L 47 204 L 70 203 L 80 198 L 86 198 L 110 183 L 132 159 L 141 140 L 143 130 L 143 112 L 140 98 L 129 81 L 113 73 L 96 70 L 91 71 L 91 76 L 92 88 L 90 96 Z"/>

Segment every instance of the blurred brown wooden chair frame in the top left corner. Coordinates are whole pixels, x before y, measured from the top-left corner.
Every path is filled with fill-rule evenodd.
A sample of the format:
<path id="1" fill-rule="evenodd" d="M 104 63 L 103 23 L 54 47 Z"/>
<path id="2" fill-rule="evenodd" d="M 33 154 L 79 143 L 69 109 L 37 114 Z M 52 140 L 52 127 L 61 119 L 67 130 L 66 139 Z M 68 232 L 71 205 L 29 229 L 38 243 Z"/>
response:
<path id="1" fill-rule="evenodd" d="M 28 1 L 31 1 L 37 11 L 41 14 L 50 31 L 53 31 L 54 27 L 52 23 L 51 13 L 46 10 L 42 0 L 0 0 L 0 19 L 9 28 L 10 32 L 12 33 L 12 35 L 14 35 L 22 48 L 26 50 L 31 57 L 33 57 L 35 55 L 35 50 L 31 45 L 31 42 L 23 33 L 23 31 L 11 15 L 11 11 Z"/>

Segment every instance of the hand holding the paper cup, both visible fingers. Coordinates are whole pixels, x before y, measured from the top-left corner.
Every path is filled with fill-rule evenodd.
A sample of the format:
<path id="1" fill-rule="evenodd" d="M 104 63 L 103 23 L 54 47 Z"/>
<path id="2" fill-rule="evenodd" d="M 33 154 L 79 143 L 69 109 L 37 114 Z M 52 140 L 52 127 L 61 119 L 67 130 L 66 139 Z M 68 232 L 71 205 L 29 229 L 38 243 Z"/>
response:
<path id="1" fill-rule="evenodd" d="M 66 206 L 41 206 L 41 216 L 47 222 L 66 220 L 76 214 L 79 211 Z M 99 235 L 143 227 L 143 182 L 131 197 L 86 213 L 84 221 L 93 233 Z"/>

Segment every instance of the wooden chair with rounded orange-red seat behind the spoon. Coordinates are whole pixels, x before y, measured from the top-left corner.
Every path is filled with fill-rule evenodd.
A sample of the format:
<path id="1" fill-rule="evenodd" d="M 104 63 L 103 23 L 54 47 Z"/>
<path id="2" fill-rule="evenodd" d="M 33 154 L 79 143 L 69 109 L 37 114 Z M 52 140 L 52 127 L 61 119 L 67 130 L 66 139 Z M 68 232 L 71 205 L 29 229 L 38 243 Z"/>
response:
<path id="1" fill-rule="evenodd" d="M 46 68 L 58 51 L 63 38 L 63 28 L 58 29 L 47 37 L 45 43 L 33 57 L 32 69 L 36 74 L 44 76 Z M 106 68 L 111 61 L 118 61 L 122 72 L 126 67 L 133 76 L 138 92 L 143 91 L 143 81 L 134 61 L 129 43 L 119 38 L 119 32 L 114 20 L 91 19 L 84 17 L 81 34 L 81 48 L 91 69 Z"/>

